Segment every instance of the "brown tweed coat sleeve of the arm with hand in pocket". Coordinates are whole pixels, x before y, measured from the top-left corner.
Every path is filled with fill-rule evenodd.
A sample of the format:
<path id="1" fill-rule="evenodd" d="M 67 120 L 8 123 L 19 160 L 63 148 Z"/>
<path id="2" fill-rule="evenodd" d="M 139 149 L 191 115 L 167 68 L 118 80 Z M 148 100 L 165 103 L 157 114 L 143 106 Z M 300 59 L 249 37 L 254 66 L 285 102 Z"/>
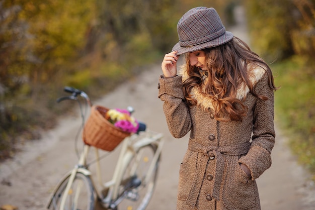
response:
<path id="1" fill-rule="evenodd" d="M 271 166 L 270 154 L 275 143 L 274 92 L 269 87 L 267 74 L 256 84 L 255 90 L 268 99 L 257 98 L 253 110 L 253 136 L 250 150 L 239 160 L 249 167 L 253 180 Z"/>

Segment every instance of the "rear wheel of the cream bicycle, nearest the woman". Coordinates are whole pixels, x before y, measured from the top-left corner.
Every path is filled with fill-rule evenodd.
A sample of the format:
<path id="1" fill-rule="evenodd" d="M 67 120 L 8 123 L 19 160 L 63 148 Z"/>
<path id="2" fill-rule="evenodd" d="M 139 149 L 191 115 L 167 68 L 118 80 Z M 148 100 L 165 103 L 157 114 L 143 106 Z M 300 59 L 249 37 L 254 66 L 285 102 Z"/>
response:
<path id="1" fill-rule="evenodd" d="M 141 147 L 139 151 L 130 159 L 127 167 L 124 169 L 124 175 L 119 185 L 118 194 L 120 195 L 121 193 L 123 193 L 124 189 L 126 188 L 126 183 L 124 180 L 127 180 L 133 175 L 136 175 L 136 177 L 141 180 L 141 184 L 136 188 L 128 190 L 128 196 L 125 197 L 123 201 L 118 204 L 116 208 L 117 210 L 144 210 L 148 205 L 155 188 L 160 156 L 155 163 L 149 182 L 144 183 L 144 178 L 147 174 L 148 167 L 151 164 L 156 149 L 157 146 L 154 144 L 146 145 L 144 147 Z M 134 164 L 136 164 L 136 158 L 139 158 L 139 164 L 137 165 L 135 174 L 130 174 L 130 170 L 133 168 Z"/>

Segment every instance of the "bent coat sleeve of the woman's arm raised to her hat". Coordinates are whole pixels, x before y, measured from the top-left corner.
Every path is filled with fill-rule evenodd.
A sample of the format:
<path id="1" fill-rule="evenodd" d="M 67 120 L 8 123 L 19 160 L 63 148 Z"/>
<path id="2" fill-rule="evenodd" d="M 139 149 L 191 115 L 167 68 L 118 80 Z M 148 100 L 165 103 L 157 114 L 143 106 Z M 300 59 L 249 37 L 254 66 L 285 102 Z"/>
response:
<path id="1" fill-rule="evenodd" d="M 175 76 L 159 79 L 159 98 L 163 103 L 163 111 L 170 133 L 175 138 L 184 137 L 191 129 L 189 108 L 184 102 L 182 77 Z"/>

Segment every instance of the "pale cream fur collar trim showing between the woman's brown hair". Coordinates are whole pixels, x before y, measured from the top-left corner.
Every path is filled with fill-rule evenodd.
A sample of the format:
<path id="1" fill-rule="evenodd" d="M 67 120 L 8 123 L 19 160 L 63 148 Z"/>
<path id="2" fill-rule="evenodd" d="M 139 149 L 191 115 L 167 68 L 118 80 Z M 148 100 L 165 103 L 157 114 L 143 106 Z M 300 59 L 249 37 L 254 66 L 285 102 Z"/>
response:
<path id="1" fill-rule="evenodd" d="M 263 67 L 259 65 L 255 65 L 255 64 L 250 64 L 248 67 L 249 67 L 249 79 L 251 80 L 254 86 L 264 76 L 266 70 Z M 183 65 L 181 67 L 178 74 L 182 76 L 182 81 L 185 81 L 186 79 L 189 78 L 186 71 L 186 65 Z M 206 82 L 208 80 L 208 77 L 203 76 L 203 79 Z M 201 86 L 202 92 L 205 92 L 204 83 L 202 83 L 202 86 Z M 236 97 L 240 100 L 243 100 L 246 98 L 249 91 L 250 91 L 249 87 L 247 86 L 245 82 L 243 82 L 237 89 Z M 211 108 L 212 110 L 214 110 L 212 97 L 205 96 L 199 91 L 199 88 L 197 87 L 192 88 L 191 94 L 197 100 L 197 105 L 200 105 L 205 110 L 207 110 L 208 108 Z"/>

